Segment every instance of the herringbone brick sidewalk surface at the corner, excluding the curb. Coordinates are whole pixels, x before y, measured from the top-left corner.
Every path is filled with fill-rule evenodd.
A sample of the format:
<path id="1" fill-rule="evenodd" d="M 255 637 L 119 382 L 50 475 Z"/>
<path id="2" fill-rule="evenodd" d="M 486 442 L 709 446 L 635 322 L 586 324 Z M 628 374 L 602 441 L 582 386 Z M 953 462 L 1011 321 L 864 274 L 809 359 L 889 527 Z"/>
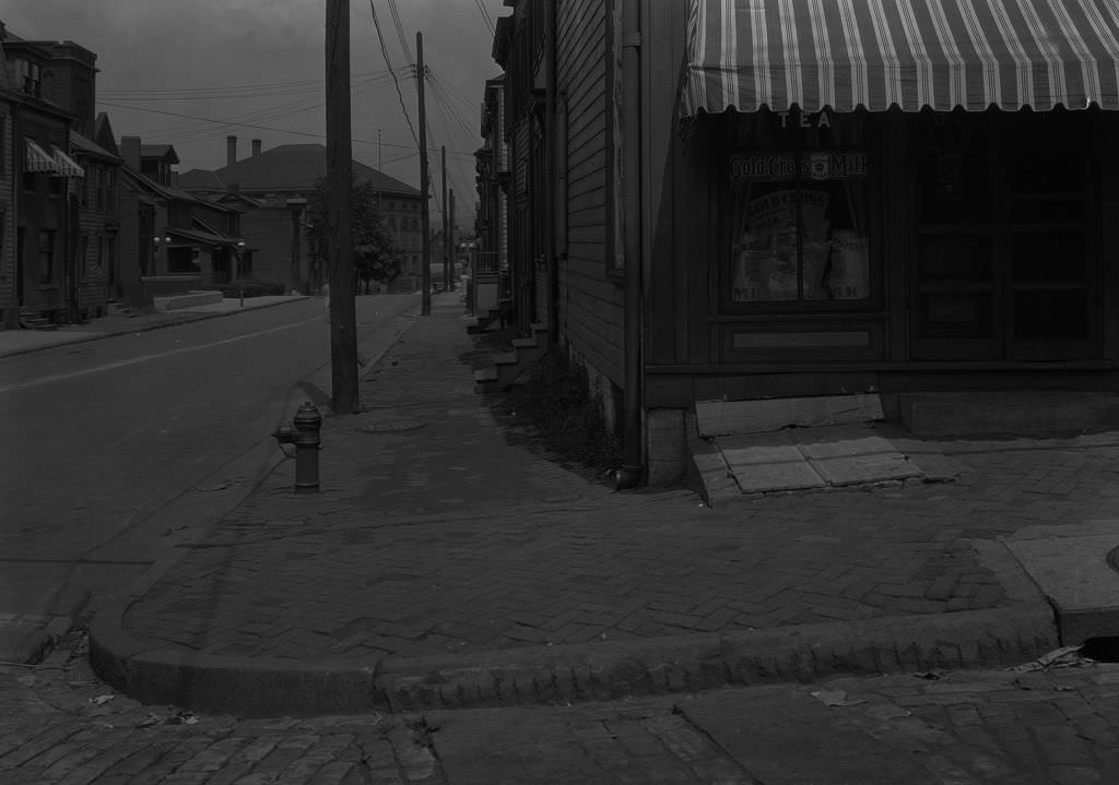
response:
<path id="1" fill-rule="evenodd" d="M 989 608 L 963 540 L 1119 518 L 1119 438 L 944 445 L 958 481 L 744 498 L 613 493 L 472 391 L 436 300 L 329 418 L 323 492 L 289 464 L 124 618 L 210 654 L 319 659 L 730 632 Z"/>

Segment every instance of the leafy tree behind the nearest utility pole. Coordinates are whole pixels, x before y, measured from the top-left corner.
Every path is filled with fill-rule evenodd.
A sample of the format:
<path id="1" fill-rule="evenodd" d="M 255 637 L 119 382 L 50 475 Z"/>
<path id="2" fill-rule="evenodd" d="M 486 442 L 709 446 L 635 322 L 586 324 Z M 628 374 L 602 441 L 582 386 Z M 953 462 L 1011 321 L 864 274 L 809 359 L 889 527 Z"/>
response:
<path id="1" fill-rule="evenodd" d="M 308 243 L 316 261 L 321 265 L 327 259 L 327 179 L 314 181 L 314 191 L 308 199 Z M 369 285 L 394 281 L 402 268 L 402 256 L 393 245 L 393 237 L 377 209 L 377 193 L 368 180 L 354 178 L 354 267 L 358 281 Z"/>

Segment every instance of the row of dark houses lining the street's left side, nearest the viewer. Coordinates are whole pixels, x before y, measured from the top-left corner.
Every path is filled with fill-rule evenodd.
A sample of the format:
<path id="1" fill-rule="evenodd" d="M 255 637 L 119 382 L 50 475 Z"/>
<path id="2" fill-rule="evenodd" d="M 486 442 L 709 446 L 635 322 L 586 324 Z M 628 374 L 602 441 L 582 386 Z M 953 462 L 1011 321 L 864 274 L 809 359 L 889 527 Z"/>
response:
<path id="1" fill-rule="evenodd" d="M 0 46 L 4 327 L 84 321 L 237 276 L 250 256 L 241 211 L 176 188 L 170 145 L 116 142 L 94 115 L 94 53 L 2 25 Z"/>

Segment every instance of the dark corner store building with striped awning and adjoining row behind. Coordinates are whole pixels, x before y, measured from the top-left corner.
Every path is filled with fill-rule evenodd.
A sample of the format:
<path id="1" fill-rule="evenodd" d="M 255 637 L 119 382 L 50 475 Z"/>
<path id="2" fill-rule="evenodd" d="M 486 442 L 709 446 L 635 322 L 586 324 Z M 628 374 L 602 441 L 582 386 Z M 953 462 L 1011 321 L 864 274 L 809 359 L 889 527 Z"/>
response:
<path id="1" fill-rule="evenodd" d="M 506 6 L 517 323 L 621 484 L 697 465 L 712 401 L 1116 389 L 1111 0 Z"/>

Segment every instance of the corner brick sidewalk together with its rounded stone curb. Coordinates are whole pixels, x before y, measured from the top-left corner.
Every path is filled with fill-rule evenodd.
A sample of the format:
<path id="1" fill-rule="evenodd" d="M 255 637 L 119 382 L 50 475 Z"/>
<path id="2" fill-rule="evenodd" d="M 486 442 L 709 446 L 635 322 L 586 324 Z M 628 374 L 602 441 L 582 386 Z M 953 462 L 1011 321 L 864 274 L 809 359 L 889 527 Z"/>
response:
<path id="1" fill-rule="evenodd" d="M 473 394 L 500 347 L 461 310 L 438 297 L 369 370 L 366 412 L 327 418 L 321 494 L 292 494 L 282 465 L 97 614 L 107 678 L 282 713 L 321 710 L 301 703 L 316 694 L 396 710 L 1014 664 L 1055 646 L 1052 611 L 1005 548 L 972 542 L 1119 517 L 1119 435 L 970 443 L 949 484 L 714 510 L 681 489 L 613 493 Z"/>

